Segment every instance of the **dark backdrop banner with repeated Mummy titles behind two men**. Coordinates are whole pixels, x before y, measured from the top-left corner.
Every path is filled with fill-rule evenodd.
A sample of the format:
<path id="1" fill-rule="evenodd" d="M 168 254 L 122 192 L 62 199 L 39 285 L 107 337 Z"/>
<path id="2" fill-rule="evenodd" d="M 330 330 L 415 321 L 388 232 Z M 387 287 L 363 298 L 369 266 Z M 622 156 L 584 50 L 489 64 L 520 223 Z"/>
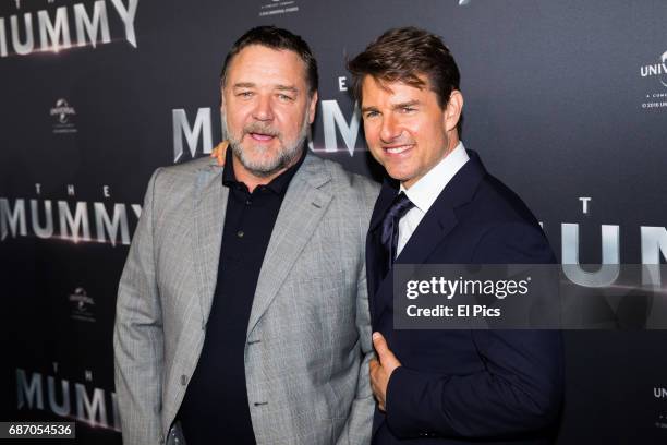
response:
<path id="1" fill-rule="evenodd" d="M 665 263 L 663 0 L 4 0 L 0 420 L 75 421 L 76 443 L 121 443 L 111 333 L 145 188 L 220 140 L 222 60 L 260 24 L 318 59 L 318 155 L 377 177 L 345 60 L 389 27 L 424 27 L 461 69 L 466 147 L 563 263 Z M 667 442 L 667 332 L 614 310 L 611 329 L 565 334 L 559 444 Z"/>

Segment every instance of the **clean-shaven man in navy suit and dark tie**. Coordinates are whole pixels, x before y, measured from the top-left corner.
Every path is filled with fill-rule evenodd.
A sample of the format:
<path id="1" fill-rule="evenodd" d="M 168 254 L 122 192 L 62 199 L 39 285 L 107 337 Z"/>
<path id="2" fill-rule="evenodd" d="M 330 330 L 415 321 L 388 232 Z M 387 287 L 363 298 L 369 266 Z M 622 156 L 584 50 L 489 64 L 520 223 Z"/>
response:
<path id="1" fill-rule="evenodd" d="M 546 444 L 563 390 L 555 330 L 393 329 L 392 264 L 550 264 L 523 202 L 459 140 L 463 96 L 439 37 L 390 29 L 349 62 L 388 178 L 366 244 L 374 444 Z"/>

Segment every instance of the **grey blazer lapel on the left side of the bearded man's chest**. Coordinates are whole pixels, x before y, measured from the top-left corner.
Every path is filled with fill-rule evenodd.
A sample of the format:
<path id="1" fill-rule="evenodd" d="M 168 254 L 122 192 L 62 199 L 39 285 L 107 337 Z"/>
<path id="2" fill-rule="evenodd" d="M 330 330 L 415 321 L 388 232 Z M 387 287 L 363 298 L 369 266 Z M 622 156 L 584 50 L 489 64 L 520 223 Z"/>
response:
<path id="1" fill-rule="evenodd" d="M 222 168 L 215 160 L 199 170 L 195 188 L 194 269 L 202 308 L 202 323 L 210 313 L 225 227 L 229 191 L 222 187 Z"/>

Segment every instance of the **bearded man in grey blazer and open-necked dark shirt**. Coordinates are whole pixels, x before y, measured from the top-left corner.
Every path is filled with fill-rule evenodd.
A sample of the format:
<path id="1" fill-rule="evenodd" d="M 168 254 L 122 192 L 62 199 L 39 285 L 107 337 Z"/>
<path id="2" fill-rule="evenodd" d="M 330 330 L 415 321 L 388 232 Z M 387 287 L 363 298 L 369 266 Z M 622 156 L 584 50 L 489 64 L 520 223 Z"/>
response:
<path id="1" fill-rule="evenodd" d="M 368 443 L 378 188 L 305 153 L 317 67 L 300 37 L 251 29 L 221 85 L 226 166 L 154 173 L 121 278 L 123 441 Z"/>

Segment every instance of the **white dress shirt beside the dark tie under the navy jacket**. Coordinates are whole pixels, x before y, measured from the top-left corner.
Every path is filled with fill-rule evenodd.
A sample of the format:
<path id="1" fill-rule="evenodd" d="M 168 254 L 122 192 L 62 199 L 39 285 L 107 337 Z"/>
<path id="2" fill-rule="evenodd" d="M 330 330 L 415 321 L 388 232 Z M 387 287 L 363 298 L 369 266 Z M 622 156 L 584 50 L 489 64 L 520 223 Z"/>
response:
<path id="1" fill-rule="evenodd" d="M 447 183 L 454 175 L 468 163 L 469 156 L 463 147 L 463 143 L 454 147 L 454 149 L 434 168 L 432 168 L 423 178 L 416 181 L 410 189 L 405 189 L 401 183 L 400 191 L 405 193 L 410 201 L 414 204 L 399 221 L 399 239 L 396 256 L 400 255 L 401 251 L 416 230 L 426 212 L 430 208 L 435 200 L 445 190 Z"/>

